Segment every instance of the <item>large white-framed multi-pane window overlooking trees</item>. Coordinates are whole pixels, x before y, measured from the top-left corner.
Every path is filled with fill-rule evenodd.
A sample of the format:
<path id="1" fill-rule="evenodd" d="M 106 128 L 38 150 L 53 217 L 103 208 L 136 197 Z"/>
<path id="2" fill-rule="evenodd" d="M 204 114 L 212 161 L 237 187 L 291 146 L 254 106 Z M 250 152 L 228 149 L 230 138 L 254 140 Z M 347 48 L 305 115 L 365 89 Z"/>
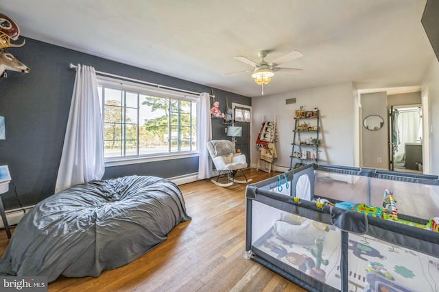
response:
<path id="1" fill-rule="evenodd" d="M 198 96 L 98 79 L 106 161 L 197 151 Z"/>

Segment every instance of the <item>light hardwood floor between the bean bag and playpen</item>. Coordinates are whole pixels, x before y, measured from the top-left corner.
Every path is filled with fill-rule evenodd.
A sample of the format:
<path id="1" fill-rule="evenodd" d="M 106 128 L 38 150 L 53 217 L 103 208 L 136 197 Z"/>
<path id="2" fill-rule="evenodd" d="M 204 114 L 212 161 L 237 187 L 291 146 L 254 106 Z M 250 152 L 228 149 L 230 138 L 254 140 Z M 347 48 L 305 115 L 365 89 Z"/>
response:
<path id="1" fill-rule="evenodd" d="M 277 174 L 246 170 L 253 182 Z M 171 230 L 165 242 L 98 278 L 61 276 L 49 291 L 305 291 L 244 258 L 245 188 L 209 180 L 180 185 L 192 220 Z M 0 230 L 0 254 L 7 245 Z"/>

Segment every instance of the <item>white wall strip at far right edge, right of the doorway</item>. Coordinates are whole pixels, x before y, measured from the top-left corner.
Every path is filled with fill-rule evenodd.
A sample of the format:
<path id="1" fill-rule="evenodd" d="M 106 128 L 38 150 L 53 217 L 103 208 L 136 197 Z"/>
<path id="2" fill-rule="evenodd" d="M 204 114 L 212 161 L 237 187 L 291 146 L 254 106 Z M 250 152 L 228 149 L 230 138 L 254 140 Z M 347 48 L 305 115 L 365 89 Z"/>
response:
<path id="1" fill-rule="evenodd" d="M 439 62 L 434 58 L 425 71 L 421 91 L 428 88 L 429 93 L 429 149 L 430 174 L 439 175 Z M 425 109 L 423 109 L 425 110 Z"/>

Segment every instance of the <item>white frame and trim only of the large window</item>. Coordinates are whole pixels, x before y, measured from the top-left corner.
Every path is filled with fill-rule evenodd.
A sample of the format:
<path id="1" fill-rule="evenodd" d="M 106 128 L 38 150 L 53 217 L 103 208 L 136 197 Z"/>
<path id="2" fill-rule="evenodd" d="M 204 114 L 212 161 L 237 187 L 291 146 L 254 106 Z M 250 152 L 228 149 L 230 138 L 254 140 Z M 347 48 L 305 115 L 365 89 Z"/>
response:
<path id="1" fill-rule="evenodd" d="M 165 88 L 160 88 L 160 86 L 151 86 L 151 85 L 145 85 L 143 83 L 137 83 L 132 81 L 126 81 L 121 79 L 116 79 L 112 77 L 106 77 L 106 76 L 99 76 L 97 75 L 97 86 L 104 86 L 105 88 L 110 88 L 114 90 L 122 90 L 125 92 L 131 92 L 131 93 L 137 93 L 137 103 L 139 105 L 139 94 L 145 94 L 149 96 L 155 96 L 159 98 L 169 98 L 169 101 L 171 101 L 171 98 L 178 99 L 180 101 L 190 101 L 192 103 L 196 103 L 196 113 L 195 117 L 196 120 L 196 150 L 189 150 L 189 151 L 178 151 L 178 152 L 165 152 L 165 153 L 154 153 L 154 154 L 147 154 L 147 155 L 130 155 L 130 156 L 123 156 L 123 157 L 105 157 L 105 165 L 106 166 L 116 166 L 116 165 L 128 165 L 128 164 L 134 164 L 134 163 L 145 163 L 145 162 L 152 162 L 152 161 L 165 161 L 165 160 L 172 160 L 172 159 L 183 159 L 187 157 L 198 157 L 200 152 L 199 148 L 200 145 L 198 143 L 198 137 L 199 137 L 199 125 L 198 125 L 198 117 L 200 116 L 200 96 L 197 96 L 195 94 L 189 94 L 186 92 L 178 92 L 176 90 L 168 90 Z M 104 98 L 103 96 L 99 96 L 99 103 L 101 106 L 101 112 L 102 112 L 102 129 L 104 131 L 104 122 L 105 122 L 105 116 L 104 116 Z M 139 108 L 137 109 L 139 113 Z M 169 114 L 171 114 L 171 107 L 168 109 Z M 192 116 L 192 113 L 191 113 Z M 137 120 L 137 147 L 139 148 L 139 116 Z M 170 124 L 168 124 L 168 127 L 170 127 Z M 192 123 L 191 123 L 192 127 Z M 170 137 L 170 136 L 169 136 Z M 169 140 L 169 149 L 171 148 Z"/>

